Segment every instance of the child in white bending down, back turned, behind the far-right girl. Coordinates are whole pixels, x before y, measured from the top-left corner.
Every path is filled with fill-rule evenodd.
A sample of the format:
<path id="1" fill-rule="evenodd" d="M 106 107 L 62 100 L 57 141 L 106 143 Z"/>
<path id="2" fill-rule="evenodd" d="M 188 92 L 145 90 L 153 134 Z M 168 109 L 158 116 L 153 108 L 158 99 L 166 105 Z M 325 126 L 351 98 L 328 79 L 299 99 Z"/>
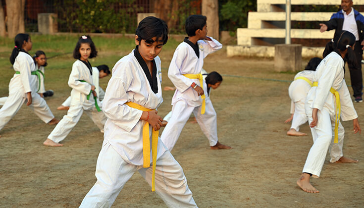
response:
<path id="1" fill-rule="evenodd" d="M 305 101 L 307 93 L 311 89 L 314 71 L 322 59 L 311 58 L 304 71 L 298 72 L 288 88 L 291 98 L 291 117 L 285 123 L 292 121 L 291 128 L 287 131 L 289 136 L 306 136 L 300 132 L 300 126 L 308 121 L 305 112 Z"/>

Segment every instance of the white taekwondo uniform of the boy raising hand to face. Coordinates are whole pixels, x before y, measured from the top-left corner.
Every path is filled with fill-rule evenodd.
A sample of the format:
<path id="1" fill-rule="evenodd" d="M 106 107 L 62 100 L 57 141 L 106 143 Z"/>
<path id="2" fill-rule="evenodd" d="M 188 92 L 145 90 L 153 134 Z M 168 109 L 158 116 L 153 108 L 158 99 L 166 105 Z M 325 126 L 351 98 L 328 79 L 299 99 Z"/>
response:
<path id="1" fill-rule="evenodd" d="M 190 79 L 184 74 L 200 74 L 204 65 L 204 58 L 212 52 L 220 50 L 222 45 L 213 38 L 211 41 L 199 40 L 196 45 L 186 37 L 173 54 L 169 65 L 168 77 L 176 87 L 172 98 L 172 115 L 161 135 L 161 140 L 169 151 L 176 144 L 184 125 L 193 112 L 202 131 L 208 137 L 209 145 L 215 146 L 217 138 L 216 112 L 211 101 L 206 99 L 205 113 L 202 114 L 203 99 L 191 87 L 196 83 L 207 93 L 207 84 L 199 79 Z"/>

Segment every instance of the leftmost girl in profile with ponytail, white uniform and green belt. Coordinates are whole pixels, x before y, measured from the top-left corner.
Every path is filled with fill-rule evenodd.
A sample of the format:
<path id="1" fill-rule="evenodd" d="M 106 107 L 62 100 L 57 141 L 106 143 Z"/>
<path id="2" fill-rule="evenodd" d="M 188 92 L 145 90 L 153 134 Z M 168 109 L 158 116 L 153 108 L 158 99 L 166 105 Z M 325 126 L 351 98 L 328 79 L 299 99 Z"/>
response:
<path id="1" fill-rule="evenodd" d="M 19 33 L 15 36 L 15 47 L 10 56 L 15 74 L 9 83 L 9 97 L 0 109 L 0 130 L 25 102 L 45 123 L 52 125 L 58 122 L 46 101 L 37 93 L 39 82 L 37 69 L 32 56 L 28 53 L 32 46 L 28 34 Z"/>

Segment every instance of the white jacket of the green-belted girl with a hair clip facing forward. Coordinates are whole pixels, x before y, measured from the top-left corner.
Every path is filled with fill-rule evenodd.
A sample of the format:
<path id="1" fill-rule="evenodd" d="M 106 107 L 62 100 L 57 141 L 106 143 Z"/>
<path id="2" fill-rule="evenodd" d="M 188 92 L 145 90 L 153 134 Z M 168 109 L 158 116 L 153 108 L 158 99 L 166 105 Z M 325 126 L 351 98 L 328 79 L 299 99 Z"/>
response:
<path id="1" fill-rule="evenodd" d="M 79 80 L 85 80 L 87 83 Z M 91 85 L 93 85 L 93 79 L 89 68 L 82 61 L 76 60 L 72 65 L 72 71 L 68 79 L 68 86 L 72 88 L 70 105 L 80 104 L 83 109 L 90 110 L 95 105 L 92 94 L 90 99 L 87 100 L 87 95 L 91 92 Z"/>

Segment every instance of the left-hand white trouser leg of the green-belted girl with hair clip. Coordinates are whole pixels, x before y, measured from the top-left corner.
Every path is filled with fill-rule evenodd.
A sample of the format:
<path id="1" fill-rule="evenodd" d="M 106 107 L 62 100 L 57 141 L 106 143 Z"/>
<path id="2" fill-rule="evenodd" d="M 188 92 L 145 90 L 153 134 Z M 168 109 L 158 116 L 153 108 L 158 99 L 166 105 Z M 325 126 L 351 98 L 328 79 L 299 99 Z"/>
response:
<path id="1" fill-rule="evenodd" d="M 64 138 L 66 138 L 69 132 L 71 132 L 73 127 L 80 120 L 82 113 L 83 108 L 81 105 L 71 105 L 67 111 L 67 115 L 63 116 L 47 138 L 55 143 L 59 143 L 64 140 Z"/>

